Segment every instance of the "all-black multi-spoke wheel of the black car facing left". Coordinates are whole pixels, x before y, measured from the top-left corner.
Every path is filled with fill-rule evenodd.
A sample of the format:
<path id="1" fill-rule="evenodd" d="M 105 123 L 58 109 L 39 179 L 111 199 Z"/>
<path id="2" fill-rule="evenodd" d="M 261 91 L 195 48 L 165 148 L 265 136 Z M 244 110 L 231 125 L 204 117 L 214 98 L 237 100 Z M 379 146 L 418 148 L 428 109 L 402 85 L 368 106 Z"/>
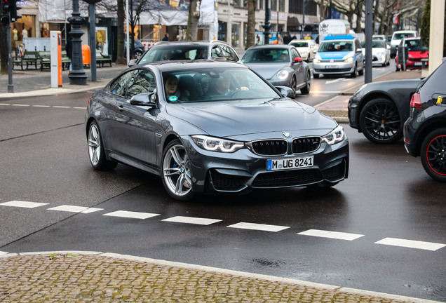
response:
<path id="1" fill-rule="evenodd" d="M 377 98 L 368 102 L 361 110 L 359 123 L 365 137 L 374 143 L 393 143 L 403 137 L 400 114 L 388 99 Z"/>

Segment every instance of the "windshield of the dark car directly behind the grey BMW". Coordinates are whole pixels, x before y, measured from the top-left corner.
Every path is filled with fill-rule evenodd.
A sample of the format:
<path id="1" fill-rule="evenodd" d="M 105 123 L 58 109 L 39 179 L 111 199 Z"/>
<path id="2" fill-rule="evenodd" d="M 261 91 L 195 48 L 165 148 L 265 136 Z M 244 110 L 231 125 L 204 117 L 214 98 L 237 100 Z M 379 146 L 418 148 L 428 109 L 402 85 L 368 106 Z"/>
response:
<path id="1" fill-rule="evenodd" d="M 195 60 L 207 59 L 208 46 L 198 45 L 168 45 L 168 46 L 152 46 L 138 64 L 144 64 L 163 60 Z"/>

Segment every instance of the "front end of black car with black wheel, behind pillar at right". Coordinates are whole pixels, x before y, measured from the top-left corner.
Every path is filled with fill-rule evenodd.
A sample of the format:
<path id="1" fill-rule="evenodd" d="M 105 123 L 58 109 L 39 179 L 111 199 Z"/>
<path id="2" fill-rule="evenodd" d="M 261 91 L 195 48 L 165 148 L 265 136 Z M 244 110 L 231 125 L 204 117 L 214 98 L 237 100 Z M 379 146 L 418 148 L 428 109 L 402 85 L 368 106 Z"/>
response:
<path id="1" fill-rule="evenodd" d="M 371 142 L 397 142 L 409 117 L 410 98 L 423 79 L 367 83 L 349 100 L 349 124 Z"/>

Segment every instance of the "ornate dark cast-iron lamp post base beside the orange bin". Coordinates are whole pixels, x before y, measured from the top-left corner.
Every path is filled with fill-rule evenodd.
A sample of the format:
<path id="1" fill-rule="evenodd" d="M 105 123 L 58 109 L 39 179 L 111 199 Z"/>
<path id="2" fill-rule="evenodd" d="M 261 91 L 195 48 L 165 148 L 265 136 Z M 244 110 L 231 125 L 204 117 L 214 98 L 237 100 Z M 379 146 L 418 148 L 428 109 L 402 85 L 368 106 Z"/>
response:
<path id="1" fill-rule="evenodd" d="M 72 31 L 69 34 L 72 35 L 73 40 L 73 55 L 72 55 L 72 72 L 69 74 L 69 83 L 76 85 L 87 85 L 87 75 L 83 71 L 83 60 L 82 60 L 82 46 L 81 46 L 81 36 L 83 35 L 81 25 L 83 23 L 83 18 L 81 13 L 79 13 L 79 0 L 73 0 L 73 13 L 72 17 L 68 18 L 69 24 L 72 25 Z M 95 49 L 91 50 L 92 52 Z"/>

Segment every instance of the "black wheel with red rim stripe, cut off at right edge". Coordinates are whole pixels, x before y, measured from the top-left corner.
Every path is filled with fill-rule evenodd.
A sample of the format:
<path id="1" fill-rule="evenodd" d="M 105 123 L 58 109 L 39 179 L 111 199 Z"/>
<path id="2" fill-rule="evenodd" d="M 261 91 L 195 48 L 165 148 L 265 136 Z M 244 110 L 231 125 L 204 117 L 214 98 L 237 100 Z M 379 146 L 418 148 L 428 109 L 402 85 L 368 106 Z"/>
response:
<path id="1" fill-rule="evenodd" d="M 434 180 L 446 182 L 446 128 L 429 133 L 421 144 L 421 164 Z"/>

